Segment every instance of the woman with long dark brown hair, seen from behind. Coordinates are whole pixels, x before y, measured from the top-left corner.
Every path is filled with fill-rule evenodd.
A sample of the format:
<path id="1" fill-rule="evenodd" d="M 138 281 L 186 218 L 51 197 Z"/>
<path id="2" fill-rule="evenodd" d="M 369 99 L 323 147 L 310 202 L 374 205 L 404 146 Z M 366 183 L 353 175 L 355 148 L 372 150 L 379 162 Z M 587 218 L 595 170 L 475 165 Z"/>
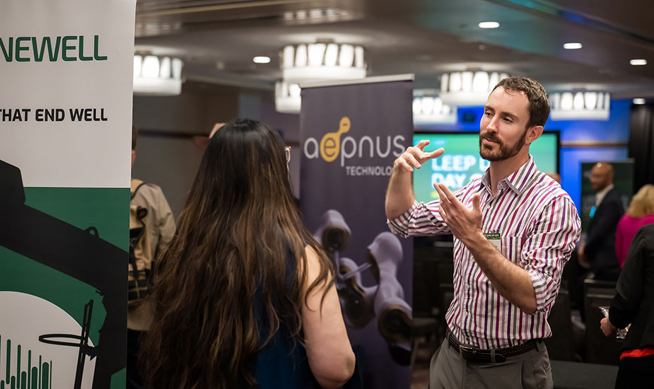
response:
<path id="1" fill-rule="evenodd" d="M 336 388 L 352 375 L 334 269 L 300 221 L 287 163 L 254 120 L 209 140 L 155 268 L 148 388 Z"/>

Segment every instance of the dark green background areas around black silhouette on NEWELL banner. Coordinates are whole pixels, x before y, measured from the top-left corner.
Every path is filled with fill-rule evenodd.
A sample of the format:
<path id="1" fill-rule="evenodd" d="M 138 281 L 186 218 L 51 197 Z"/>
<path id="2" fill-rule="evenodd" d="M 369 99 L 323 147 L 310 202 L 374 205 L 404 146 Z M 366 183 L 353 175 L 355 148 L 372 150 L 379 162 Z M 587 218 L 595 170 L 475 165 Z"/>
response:
<path id="1" fill-rule="evenodd" d="M 94 226 L 103 240 L 122 246 L 126 252 L 129 248 L 129 214 L 124 207 L 129 204 L 129 188 L 25 188 L 25 204 L 77 228 Z M 124 215 L 120 217 L 120 214 Z M 88 266 L 93 266 L 93 258 L 88 259 Z M 96 308 L 90 339 L 98 342 L 98 330 L 106 313 L 102 308 L 103 296 L 96 293 L 93 286 L 1 245 L 0 267 L 3 269 L 0 290 L 39 296 L 65 310 L 78 323 L 83 320 L 84 304 L 93 299 Z"/>

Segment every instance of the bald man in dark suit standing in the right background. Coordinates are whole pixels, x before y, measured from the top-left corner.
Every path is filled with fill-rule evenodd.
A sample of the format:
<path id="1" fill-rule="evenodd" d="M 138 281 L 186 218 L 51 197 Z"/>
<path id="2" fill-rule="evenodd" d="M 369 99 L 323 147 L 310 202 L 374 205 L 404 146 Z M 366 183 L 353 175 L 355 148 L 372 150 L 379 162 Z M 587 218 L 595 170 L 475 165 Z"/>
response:
<path id="1" fill-rule="evenodd" d="M 595 279 L 615 280 L 619 266 L 615 256 L 615 231 L 624 214 L 620 194 L 613 187 L 613 167 L 599 162 L 590 170 L 590 185 L 597 192 L 590 212 L 588 237 L 580 245 L 580 260 L 590 266 Z"/>

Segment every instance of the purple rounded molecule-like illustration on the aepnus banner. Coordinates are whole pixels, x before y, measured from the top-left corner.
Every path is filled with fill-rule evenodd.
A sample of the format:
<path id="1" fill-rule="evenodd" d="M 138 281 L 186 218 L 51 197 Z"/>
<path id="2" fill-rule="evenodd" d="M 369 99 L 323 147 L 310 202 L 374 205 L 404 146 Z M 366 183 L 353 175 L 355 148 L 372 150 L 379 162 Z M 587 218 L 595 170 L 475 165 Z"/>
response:
<path id="1" fill-rule="evenodd" d="M 412 311 L 404 300 L 402 284 L 397 280 L 402 244 L 392 233 L 380 233 L 368 245 L 366 263 L 357 265 L 351 258 L 340 256 L 351 235 L 343 215 L 335 209 L 325 211 L 320 227 L 314 233 L 314 238 L 337 269 L 336 287 L 345 321 L 351 327 L 361 329 L 376 317 L 378 331 L 387 343 L 393 361 L 407 366 L 411 355 Z M 367 269 L 377 285 L 363 285 L 361 272 Z"/>

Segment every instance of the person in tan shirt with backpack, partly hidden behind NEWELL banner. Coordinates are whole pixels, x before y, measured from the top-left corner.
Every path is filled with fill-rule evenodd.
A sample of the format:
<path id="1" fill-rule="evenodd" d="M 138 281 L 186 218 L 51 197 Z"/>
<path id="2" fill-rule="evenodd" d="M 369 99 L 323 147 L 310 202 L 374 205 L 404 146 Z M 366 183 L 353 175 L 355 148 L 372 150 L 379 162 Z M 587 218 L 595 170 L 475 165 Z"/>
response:
<path id="1" fill-rule="evenodd" d="M 139 132 L 132 127 L 132 167 L 136 158 L 136 139 Z M 150 245 L 150 260 L 163 251 L 175 233 L 175 219 L 173 211 L 158 185 L 144 183 L 132 178 L 133 197 L 130 205 L 147 210 L 144 219 L 145 231 L 148 234 L 146 242 Z M 138 187 L 138 190 L 136 188 Z M 136 190 L 136 192 L 134 192 Z M 141 303 L 129 306 L 127 310 L 127 389 L 143 388 L 141 366 L 138 363 L 139 342 L 144 331 L 148 330 L 151 321 L 151 312 L 148 306 Z"/>

